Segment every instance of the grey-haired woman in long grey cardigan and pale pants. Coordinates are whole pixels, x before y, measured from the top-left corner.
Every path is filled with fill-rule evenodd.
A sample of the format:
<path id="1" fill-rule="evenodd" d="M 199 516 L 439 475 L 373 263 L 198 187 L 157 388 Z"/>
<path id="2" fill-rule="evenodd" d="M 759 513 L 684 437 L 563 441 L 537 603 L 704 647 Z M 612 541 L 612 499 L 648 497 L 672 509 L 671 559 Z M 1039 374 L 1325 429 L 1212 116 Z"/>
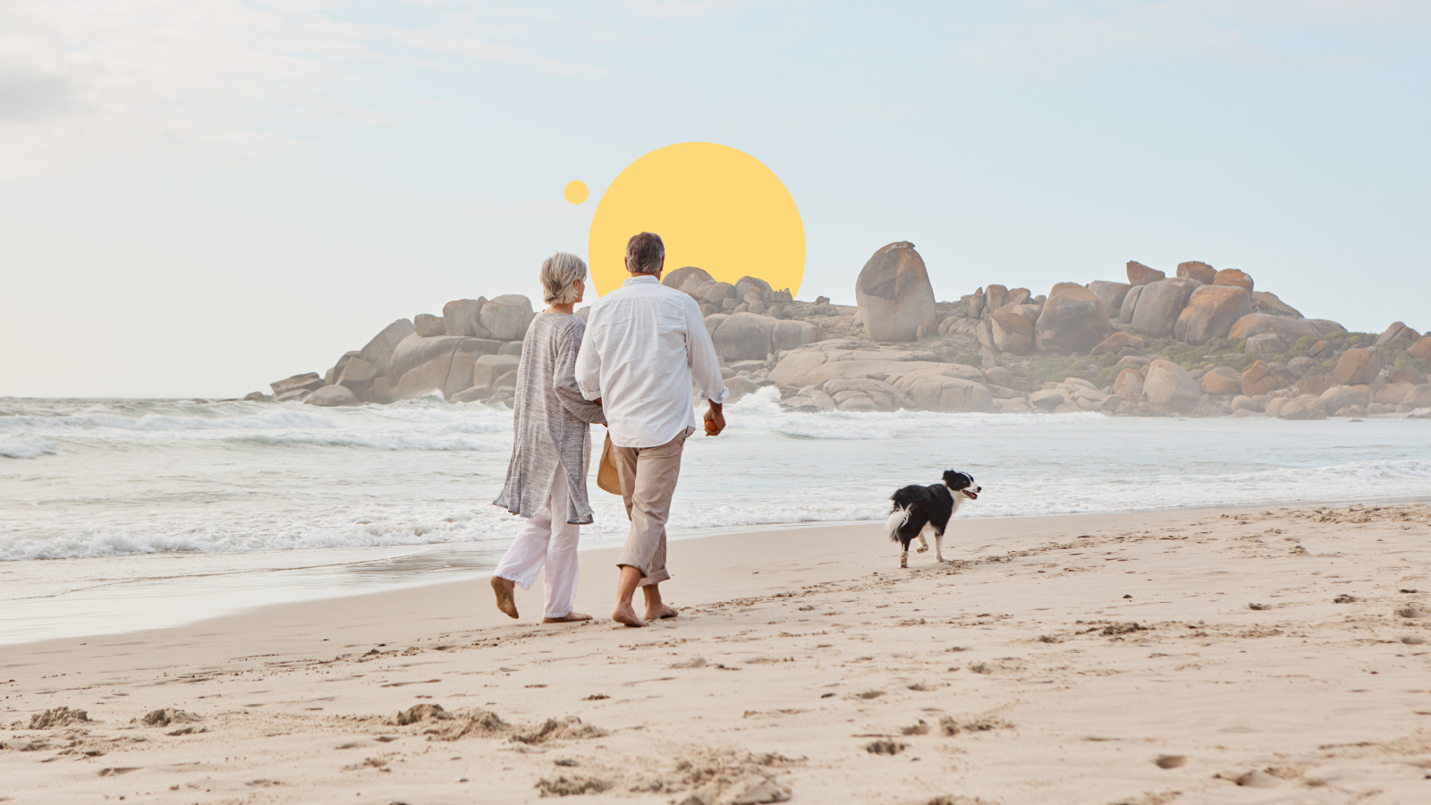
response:
<path id="1" fill-rule="evenodd" d="M 514 584 L 531 589 L 547 567 L 542 623 L 590 620 L 572 612 L 577 597 L 577 540 L 591 523 L 587 501 L 587 458 L 591 424 L 605 424 L 601 401 L 590 403 L 577 388 L 577 351 L 585 322 L 571 314 L 587 289 L 587 264 L 557 252 L 541 264 L 550 308 L 537 314 L 517 367 L 512 460 L 507 486 L 492 503 L 527 519 L 512 547 L 492 574 L 497 609 L 517 617 Z"/>

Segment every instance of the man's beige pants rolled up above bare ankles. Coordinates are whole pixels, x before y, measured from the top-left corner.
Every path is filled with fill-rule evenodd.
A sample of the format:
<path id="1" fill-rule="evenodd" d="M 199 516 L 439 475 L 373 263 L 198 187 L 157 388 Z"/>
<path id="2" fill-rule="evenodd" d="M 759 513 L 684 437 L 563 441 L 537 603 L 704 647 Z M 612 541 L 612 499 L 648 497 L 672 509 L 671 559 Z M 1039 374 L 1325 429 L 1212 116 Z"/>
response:
<path id="1" fill-rule="evenodd" d="M 671 496 L 681 476 L 681 448 L 691 430 L 657 447 L 612 445 L 621 500 L 631 520 L 631 533 L 617 566 L 640 570 L 641 586 L 660 584 L 671 577 L 665 569 L 665 520 L 671 516 Z"/>

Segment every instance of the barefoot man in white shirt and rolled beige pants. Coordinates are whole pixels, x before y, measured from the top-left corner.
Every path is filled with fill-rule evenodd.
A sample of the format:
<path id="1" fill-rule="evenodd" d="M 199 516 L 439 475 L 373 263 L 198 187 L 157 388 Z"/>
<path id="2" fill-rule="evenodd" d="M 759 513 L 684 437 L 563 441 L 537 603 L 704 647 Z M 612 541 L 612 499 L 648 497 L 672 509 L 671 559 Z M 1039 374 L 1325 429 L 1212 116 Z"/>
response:
<path id="1" fill-rule="evenodd" d="M 611 619 L 625 626 L 675 617 L 661 602 L 665 569 L 665 520 L 681 471 L 681 447 L 695 431 L 691 381 L 710 403 L 705 433 L 726 428 L 721 404 L 728 392 L 720 358 L 701 309 L 688 295 L 661 285 L 665 245 L 651 232 L 627 242 L 631 278 L 592 309 L 577 354 L 577 385 L 587 400 L 601 400 L 615 451 L 621 498 L 631 533 L 617 566 L 617 606 Z M 645 593 L 645 620 L 631 606 Z"/>

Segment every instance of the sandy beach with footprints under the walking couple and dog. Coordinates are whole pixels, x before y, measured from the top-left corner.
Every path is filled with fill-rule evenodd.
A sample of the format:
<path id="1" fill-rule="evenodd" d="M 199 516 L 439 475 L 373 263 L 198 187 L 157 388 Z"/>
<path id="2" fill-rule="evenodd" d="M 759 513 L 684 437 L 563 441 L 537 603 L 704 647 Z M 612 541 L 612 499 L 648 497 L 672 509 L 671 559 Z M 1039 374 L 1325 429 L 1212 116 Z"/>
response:
<path id="1" fill-rule="evenodd" d="M 1428 536 L 964 520 L 900 570 L 877 524 L 788 527 L 673 543 L 681 617 L 640 630 L 478 579 L 6 646 L 0 801 L 1427 802 Z"/>

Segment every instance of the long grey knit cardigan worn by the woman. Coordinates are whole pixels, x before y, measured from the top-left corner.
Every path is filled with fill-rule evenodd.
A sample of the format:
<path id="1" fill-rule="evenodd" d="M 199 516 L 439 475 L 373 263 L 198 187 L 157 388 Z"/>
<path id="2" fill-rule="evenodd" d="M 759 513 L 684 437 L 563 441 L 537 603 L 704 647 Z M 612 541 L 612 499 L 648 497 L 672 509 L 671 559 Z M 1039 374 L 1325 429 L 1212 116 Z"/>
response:
<path id="1" fill-rule="evenodd" d="M 607 424 L 601 405 L 577 388 L 577 351 L 587 322 L 574 315 L 539 312 L 522 339 L 517 364 L 512 415 L 512 460 L 507 486 L 492 503 L 512 514 L 532 517 L 551 497 L 551 480 L 561 463 L 567 473 L 567 521 L 591 523 L 587 500 L 587 460 L 592 424 Z M 552 511 L 552 519 L 560 514 Z"/>

